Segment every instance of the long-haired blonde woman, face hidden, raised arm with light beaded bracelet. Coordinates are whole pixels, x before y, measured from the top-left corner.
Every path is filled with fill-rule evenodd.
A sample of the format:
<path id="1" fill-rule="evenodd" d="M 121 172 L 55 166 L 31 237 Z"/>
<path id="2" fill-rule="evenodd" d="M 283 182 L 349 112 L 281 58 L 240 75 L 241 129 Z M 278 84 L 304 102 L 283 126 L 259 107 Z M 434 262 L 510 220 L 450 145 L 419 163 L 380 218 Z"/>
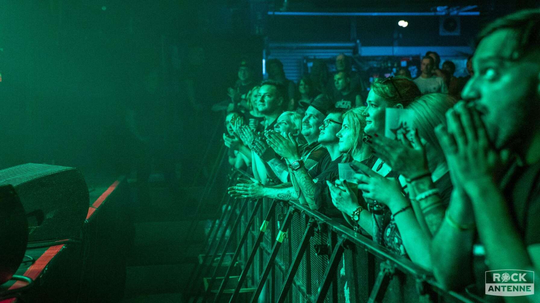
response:
<path id="1" fill-rule="evenodd" d="M 444 218 L 452 183 L 442 148 L 435 135 L 437 125 L 446 125 L 445 113 L 456 104 L 447 94 L 423 95 L 408 109 L 414 112 L 415 139 L 396 141 L 383 136 L 367 144 L 376 156 L 407 181 L 409 199 L 422 228 L 431 236 Z"/>

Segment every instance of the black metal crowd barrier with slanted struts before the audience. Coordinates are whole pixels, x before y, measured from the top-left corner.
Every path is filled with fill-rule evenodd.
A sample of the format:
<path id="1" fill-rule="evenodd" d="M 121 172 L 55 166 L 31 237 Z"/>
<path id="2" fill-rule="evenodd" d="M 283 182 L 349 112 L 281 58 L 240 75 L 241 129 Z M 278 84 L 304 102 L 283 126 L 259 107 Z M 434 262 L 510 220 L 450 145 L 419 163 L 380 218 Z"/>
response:
<path id="1" fill-rule="evenodd" d="M 214 268 L 206 291 L 196 293 L 193 302 L 197 296 L 203 302 L 240 302 L 248 299 L 240 299 L 246 292 L 251 302 L 261 295 L 264 302 L 478 302 L 443 290 L 409 259 L 307 206 L 244 199 L 230 212 L 219 224 L 230 228 L 231 236 L 223 247 L 218 240 L 212 260 L 219 254 L 220 263 L 236 240 L 231 263 L 219 282 L 220 264 Z M 201 265 L 203 275 L 212 260 Z M 240 276 L 233 280 L 235 270 Z"/>

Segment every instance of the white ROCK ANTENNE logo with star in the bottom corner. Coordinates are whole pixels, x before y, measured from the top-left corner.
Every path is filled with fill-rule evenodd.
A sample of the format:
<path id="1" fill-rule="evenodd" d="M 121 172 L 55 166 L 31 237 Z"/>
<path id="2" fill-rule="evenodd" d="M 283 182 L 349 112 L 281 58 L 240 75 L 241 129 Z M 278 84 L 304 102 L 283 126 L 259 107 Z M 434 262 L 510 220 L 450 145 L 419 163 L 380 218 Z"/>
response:
<path id="1" fill-rule="evenodd" d="M 517 297 L 535 294 L 535 273 L 524 270 L 485 272 L 485 294 Z"/>

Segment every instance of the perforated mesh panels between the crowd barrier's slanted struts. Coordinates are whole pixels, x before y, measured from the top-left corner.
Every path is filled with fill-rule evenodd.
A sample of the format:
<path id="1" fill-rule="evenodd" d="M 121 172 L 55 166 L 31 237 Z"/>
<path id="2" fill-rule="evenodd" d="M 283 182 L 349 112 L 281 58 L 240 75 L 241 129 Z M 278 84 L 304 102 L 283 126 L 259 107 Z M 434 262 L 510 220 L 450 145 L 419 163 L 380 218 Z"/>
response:
<path id="1" fill-rule="evenodd" d="M 245 264 L 249 253 L 251 252 L 254 240 L 258 236 L 262 222 L 268 214 L 268 211 L 272 205 L 272 199 L 265 198 L 262 202 L 261 207 L 258 210 L 257 216 L 255 216 L 254 223 L 251 227 L 251 232 L 248 234 L 247 242 L 245 243 L 245 249 L 240 256 L 241 264 Z M 253 211 L 255 201 L 251 201 L 248 210 L 243 215 L 242 224 L 237 235 L 234 235 L 238 240 L 241 236 L 241 233 L 247 227 L 249 215 Z M 239 203 L 237 210 L 241 207 Z M 280 226 L 282 225 L 289 207 L 298 207 L 298 206 L 288 206 L 287 203 L 282 203 L 280 201 L 276 202 L 275 206 L 275 216 L 267 222 L 266 232 L 259 247 L 258 253 L 255 254 L 255 259 L 253 260 L 252 266 L 250 268 L 250 274 L 246 280 L 247 287 L 256 287 L 259 283 L 260 275 L 264 266 L 266 266 L 269 255 L 272 251 L 272 248 L 276 242 L 276 236 L 278 235 Z M 266 292 L 267 300 L 273 294 L 275 300 L 279 298 L 281 289 L 284 284 L 284 280 L 291 266 L 293 258 L 296 251 L 298 250 L 299 245 L 301 244 L 303 234 L 307 228 L 307 222 L 312 219 L 308 211 L 297 211 L 294 215 L 291 215 L 291 225 L 287 230 L 287 237 L 281 244 L 280 250 L 276 256 L 273 272 L 268 276 L 267 283 L 269 285 L 268 292 Z M 232 219 L 236 217 L 236 214 L 232 216 Z M 232 224 L 232 223 L 231 223 Z M 331 227 L 331 226 L 330 226 Z M 334 247 L 330 247 L 329 235 L 334 233 L 332 228 L 330 228 L 327 223 L 318 224 L 317 228 L 314 230 L 313 237 L 309 240 L 309 245 L 302 256 L 301 262 L 296 274 L 294 276 L 294 281 L 289 288 L 286 302 L 292 303 L 306 303 L 313 302 L 318 294 L 319 286 L 322 284 L 323 275 L 326 271 L 326 268 L 329 264 L 329 256 L 332 254 Z M 369 264 L 368 258 L 370 253 L 364 249 L 361 245 L 354 245 L 349 243 L 346 245 L 346 249 L 343 252 L 343 257 L 338 263 L 338 266 L 335 270 L 336 281 L 337 281 L 337 293 L 335 297 L 338 299 L 339 303 L 350 303 L 350 302 L 366 302 L 369 298 L 370 290 L 368 283 L 368 267 L 374 266 L 374 274 L 376 278 L 377 274 L 380 271 L 380 264 L 383 261 L 381 257 L 375 254 L 374 264 Z M 323 247 L 328 247 L 327 254 L 316 254 L 316 246 L 322 245 Z M 231 249 L 232 250 L 232 249 Z M 308 262 L 309 259 L 309 262 Z M 272 275 L 275 278 L 274 285 L 271 285 Z M 418 277 L 418 276 L 416 276 Z M 430 302 L 427 295 L 420 295 L 417 290 L 417 281 L 416 277 L 411 273 L 403 273 L 399 270 L 395 270 L 395 273 L 388 284 L 387 290 L 384 293 L 382 302 L 384 303 L 395 303 L 395 302 L 404 302 L 404 303 L 416 303 L 416 302 Z M 263 292 L 265 293 L 265 292 Z M 330 302 L 332 299 L 332 286 L 328 291 L 325 302 Z M 463 300 L 457 300 L 454 295 L 445 293 L 448 299 L 445 301 L 448 302 L 463 302 Z M 442 298 L 442 297 L 438 297 Z M 438 301 L 442 302 L 442 299 Z M 474 300 L 465 300 L 464 302 L 475 302 Z"/>

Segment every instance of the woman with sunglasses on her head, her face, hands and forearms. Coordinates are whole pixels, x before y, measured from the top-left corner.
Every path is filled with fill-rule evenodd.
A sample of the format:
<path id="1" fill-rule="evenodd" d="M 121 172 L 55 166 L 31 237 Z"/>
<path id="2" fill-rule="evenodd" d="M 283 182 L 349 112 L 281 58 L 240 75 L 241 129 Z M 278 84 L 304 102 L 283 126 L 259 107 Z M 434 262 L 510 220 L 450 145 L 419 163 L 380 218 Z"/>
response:
<path id="1" fill-rule="evenodd" d="M 371 138 L 383 137 L 386 108 L 408 107 L 417 97 L 420 97 L 420 90 L 407 78 L 376 79 L 368 95 L 368 107 L 363 113 L 367 122 L 366 134 Z M 368 144 L 373 142 L 368 140 Z M 395 151 L 390 150 L 389 153 Z M 355 178 L 363 198 L 368 203 L 368 209 L 357 201 L 356 192 L 349 184 L 340 180 L 336 181 L 336 185 L 328 184 L 336 208 L 348 214 L 352 221 L 372 235 L 377 243 L 398 254 L 409 254 L 415 263 L 429 268 L 429 250 L 426 249 L 429 247 L 429 237 L 421 229 L 414 213 L 410 211 L 408 199 L 403 195 L 406 187 L 404 178 L 377 156 L 362 162 L 357 167 L 360 174 L 356 174 Z M 398 178 L 401 182 L 396 180 Z M 354 203 L 356 208 L 350 212 Z M 401 226 L 403 239 L 397 231 L 396 222 Z"/>

